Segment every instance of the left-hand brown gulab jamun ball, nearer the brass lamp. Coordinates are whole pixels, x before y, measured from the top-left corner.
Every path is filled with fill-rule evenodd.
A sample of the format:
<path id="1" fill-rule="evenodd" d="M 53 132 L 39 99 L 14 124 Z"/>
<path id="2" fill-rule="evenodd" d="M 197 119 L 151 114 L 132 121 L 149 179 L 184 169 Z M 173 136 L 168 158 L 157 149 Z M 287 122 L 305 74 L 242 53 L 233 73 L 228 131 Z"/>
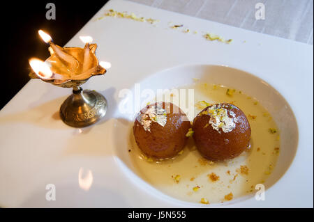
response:
<path id="1" fill-rule="evenodd" d="M 147 155 L 156 159 L 174 157 L 188 137 L 190 121 L 178 106 L 170 102 L 150 104 L 138 113 L 133 126 L 135 141 Z"/>

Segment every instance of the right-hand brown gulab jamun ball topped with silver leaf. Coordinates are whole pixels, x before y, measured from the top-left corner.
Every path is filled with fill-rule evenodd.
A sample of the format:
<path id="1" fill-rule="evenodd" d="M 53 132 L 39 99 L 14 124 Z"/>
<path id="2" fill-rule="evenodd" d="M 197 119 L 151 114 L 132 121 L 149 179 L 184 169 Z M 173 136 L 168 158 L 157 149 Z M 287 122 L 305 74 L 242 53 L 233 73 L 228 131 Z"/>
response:
<path id="1" fill-rule="evenodd" d="M 197 150 L 211 161 L 237 157 L 248 148 L 251 127 L 241 109 L 233 104 L 214 104 L 194 118 Z"/>

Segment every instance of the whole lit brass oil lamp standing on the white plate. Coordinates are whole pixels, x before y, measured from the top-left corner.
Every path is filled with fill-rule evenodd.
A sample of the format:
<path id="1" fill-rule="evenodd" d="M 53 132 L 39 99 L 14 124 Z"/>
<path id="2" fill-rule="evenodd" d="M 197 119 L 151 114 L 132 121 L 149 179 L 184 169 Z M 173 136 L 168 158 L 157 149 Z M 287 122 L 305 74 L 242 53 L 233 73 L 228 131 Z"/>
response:
<path id="1" fill-rule="evenodd" d="M 73 88 L 70 95 L 60 107 L 60 117 L 71 127 L 87 127 L 105 116 L 107 100 L 95 90 L 83 90 L 81 85 L 96 75 L 103 75 L 110 68 L 110 63 L 98 62 L 95 55 L 96 44 L 90 36 L 80 37 L 85 42 L 84 48 L 59 47 L 52 42 L 50 35 L 38 31 L 40 37 L 50 45 L 50 57 L 40 61 L 31 58 L 29 64 L 33 72 L 32 79 L 41 79 L 54 86 Z"/>

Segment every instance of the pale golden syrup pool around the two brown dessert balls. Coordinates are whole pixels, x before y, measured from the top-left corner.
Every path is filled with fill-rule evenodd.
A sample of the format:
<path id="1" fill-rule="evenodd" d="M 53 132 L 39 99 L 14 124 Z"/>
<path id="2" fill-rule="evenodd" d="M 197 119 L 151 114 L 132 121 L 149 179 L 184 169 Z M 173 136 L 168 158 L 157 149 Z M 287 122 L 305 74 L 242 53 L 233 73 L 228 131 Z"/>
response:
<path id="1" fill-rule="evenodd" d="M 211 162 L 200 155 L 193 138 L 188 138 L 186 148 L 177 157 L 155 161 L 144 157 L 130 129 L 129 154 L 140 177 L 168 196 L 192 203 L 207 203 L 207 200 L 209 204 L 225 203 L 231 196 L 233 201 L 253 195 L 257 191 L 255 186 L 263 184 L 276 166 L 280 153 L 276 122 L 255 98 L 241 89 L 200 82 L 178 89 L 193 89 L 194 101 L 186 101 L 188 106 L 194 107 L 194 112 L 187 113 L 191 122 L 202 110 L 198 105 L 200 101 L 210 104 L 228 102 L 238 106 L 251 125 L 251 148 L 234 159 Z M 170 101 L 165 102 L 176 104 L 176 96 L 179 95 L 171 95 Z M 180 108 L 188 112 L 185 107 Z M 210 175 L 218 176 L 218 180 L 211 180 Z"/>

